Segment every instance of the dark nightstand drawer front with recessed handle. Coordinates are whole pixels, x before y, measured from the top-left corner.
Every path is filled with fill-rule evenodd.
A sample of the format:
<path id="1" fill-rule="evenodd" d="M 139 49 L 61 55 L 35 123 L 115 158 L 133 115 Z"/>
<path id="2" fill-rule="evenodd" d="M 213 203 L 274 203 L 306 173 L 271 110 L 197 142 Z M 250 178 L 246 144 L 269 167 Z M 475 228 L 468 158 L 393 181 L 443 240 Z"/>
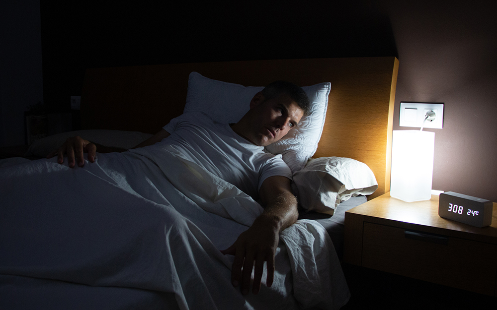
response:
<path id="1" fill-rule="evenodd" d="M 367 222 L 362 245 L 364 267 L 494 296 L 496 245 Z"/>

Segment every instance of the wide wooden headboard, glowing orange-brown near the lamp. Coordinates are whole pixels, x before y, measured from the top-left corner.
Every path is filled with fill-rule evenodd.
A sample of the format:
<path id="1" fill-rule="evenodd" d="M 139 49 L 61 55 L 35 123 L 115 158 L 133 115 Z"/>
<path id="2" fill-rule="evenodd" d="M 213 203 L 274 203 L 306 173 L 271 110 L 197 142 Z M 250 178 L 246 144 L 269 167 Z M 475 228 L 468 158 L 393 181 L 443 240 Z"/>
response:
<path id="1" fill-rule="evenodd" d="M 300 86 L 331 82 L 328 112 L 313 157 L 366 163 L 379 188 L 390 190 L 395 57 L 206 62 L 87 69 L 81 98 L 83 129 L 156 133 L 183 112 L 191 71 L 245 86 L 288 80 Z"/>

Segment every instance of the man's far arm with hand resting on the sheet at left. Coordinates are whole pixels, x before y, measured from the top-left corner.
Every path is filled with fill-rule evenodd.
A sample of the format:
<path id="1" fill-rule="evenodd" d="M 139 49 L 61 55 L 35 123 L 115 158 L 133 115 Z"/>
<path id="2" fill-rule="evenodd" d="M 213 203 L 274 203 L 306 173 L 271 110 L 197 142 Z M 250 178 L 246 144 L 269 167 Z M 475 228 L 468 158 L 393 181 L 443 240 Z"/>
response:
<path id="1" fill-rule="evenodd" d="M 155 144 L 157 142 L 162 141 L 162 139 L 168 136 L 169 132 L 167 132 L 164 129 L 161 129 L 161 131 L 157 132 L 155 135 L 141 142 L 140 144 L 138 144 L 133 148 L 144 147 L 147 145 Z M 64 155 L 66 155 L 68 158 L 69 167 L 72 168 L 75 166 L 76 163 L 75 159 L 78 160 L 78 166 L 83 167 L 84 165 L 83 153 L 85 152 L 88 153 L 88 161 L 94 162 L 97 148 L 99 153 L 126 151 L 125 149 L 122 148 L 109 147 L 109 146 L 103 146 L 96 143 L 92 143 L 88 140 L 83 139 L 80 136 L 76 136 L 68 138 L 66 142 L 62 144 L 61 147 L 48 154 L 47 158 L 52 158 L 55 155 L 57 155 L 57 162 L 59 164 L 62 164 L 64 162 Z"/>

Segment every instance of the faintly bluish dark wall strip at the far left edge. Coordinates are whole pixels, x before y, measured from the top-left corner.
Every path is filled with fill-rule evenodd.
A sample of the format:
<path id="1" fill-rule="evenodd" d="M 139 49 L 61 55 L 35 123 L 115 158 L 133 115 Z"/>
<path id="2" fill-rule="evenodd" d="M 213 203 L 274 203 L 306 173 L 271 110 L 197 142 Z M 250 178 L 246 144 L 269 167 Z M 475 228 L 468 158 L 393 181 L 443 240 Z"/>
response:
<path id="1" fill-rule="evenodd" d="M 39 0 L 0 1 L 0 147 L 24 144 L 24 111 L 43 100 Z"/>

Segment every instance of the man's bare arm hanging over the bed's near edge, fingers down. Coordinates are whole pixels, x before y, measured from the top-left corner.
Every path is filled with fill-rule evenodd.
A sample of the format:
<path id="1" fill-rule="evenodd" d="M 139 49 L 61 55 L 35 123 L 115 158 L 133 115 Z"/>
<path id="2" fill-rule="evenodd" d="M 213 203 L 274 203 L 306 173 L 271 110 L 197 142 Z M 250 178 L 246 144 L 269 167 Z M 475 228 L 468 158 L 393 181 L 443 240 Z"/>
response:
<path id="1" fill-rule="evenodd" d="M 274 279 L 274 255 L 278 247 L 279 232 L 297 221 L 297 198 L 292 193 L 288 178 L 267 178 L 260 187 L 259 195 L 265 208 L 252 226 L 223 254 L 235 255 L 232 267 L 232 283 L 241 285 L 242 294 L 250 291 L 250 276 L 255 263 L 252 293 L 260 289 L 264 261 L 267 262 L 266 285 Z"/>

